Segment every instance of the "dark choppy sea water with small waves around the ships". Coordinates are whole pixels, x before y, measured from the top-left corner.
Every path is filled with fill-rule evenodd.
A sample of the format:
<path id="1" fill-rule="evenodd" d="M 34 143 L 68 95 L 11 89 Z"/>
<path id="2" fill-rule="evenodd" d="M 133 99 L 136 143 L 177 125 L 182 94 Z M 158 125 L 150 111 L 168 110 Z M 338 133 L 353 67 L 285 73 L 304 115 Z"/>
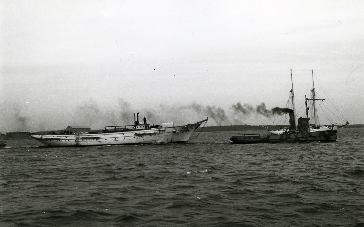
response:
<path id="1" fill-rule="evenodd" d="M 8 140 L 0 225 L 364 226 L 364 128 L 339 129 L 336 143 L 232 144 L 236 133 L 143 146 Z"/>

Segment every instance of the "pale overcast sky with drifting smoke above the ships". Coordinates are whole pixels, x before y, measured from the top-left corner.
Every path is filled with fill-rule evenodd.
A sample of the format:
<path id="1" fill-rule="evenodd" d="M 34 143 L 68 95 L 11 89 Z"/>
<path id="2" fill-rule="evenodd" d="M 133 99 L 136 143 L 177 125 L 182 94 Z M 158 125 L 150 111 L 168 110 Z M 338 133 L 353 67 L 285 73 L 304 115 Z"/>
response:
<path id="1" fill-rule="evenodd" d="M 285 107 L 290 68 L 299 116 L 313 69 L 320 98 L 364 124 L 364 1 L 2 0 L 0 9 L 2 133 L 133 124 L 134 112 L 151 124 L 272 124 L 234 106 Z"/>

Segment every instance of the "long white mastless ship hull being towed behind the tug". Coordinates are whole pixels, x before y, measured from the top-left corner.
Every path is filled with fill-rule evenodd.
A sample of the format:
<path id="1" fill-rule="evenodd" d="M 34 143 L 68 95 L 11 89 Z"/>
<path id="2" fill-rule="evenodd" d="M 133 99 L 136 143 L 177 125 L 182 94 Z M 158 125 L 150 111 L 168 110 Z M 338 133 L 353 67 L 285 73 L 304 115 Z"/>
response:
<path id="1" fill-rule="evenodd" d="M 150 126 L 146 122 L 139 124 L 139 113 L 134 125 L 107 126 L 102 132 L 83 132 L 74 134 L 36 134 L 30 136 L 38 140 L 43 146 L 107 146 L 127 144 L 159 144 L 159 143 L 183 143 L 188 142 L 190 135 L 206 118 L 194 124 L 174 126 L 174 123 L 163 123 L 161 126 Z"/>

